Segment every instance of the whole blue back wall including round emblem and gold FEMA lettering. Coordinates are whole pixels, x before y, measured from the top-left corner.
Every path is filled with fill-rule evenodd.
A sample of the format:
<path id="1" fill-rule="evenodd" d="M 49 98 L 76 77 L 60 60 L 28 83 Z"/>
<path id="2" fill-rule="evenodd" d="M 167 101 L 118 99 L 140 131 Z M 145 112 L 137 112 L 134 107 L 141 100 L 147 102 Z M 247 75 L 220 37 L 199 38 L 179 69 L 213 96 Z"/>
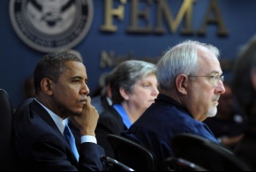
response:
<path id="1" fill-rule="evenodd" d="M 255 8 L 255 0 L 1 0 L 0 87 L 17 108 L 41 56 L 72 49 L 93 95 L 120 62 L 156 63 L 187 39 L 221 49 L 230 79 L 239 49 L 256 32 Z"/>

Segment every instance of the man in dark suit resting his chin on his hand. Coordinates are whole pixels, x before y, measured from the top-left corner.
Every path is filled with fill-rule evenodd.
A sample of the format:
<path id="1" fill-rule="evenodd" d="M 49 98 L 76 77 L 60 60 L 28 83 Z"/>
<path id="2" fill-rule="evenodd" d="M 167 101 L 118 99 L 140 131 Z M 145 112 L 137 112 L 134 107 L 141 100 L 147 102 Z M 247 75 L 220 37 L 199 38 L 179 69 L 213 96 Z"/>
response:
<path id="1" fill-rule="evenodd" d="M 95 127 L 99 114 L 87 94 L 87 71 L 79 57 L 49 53 L 34 69 L 35 99 L 14 114 L 14 147 L 23 170 L 102 170 Z M 67 117 L 81 134 L 79 161 L 64 138 Z"/>

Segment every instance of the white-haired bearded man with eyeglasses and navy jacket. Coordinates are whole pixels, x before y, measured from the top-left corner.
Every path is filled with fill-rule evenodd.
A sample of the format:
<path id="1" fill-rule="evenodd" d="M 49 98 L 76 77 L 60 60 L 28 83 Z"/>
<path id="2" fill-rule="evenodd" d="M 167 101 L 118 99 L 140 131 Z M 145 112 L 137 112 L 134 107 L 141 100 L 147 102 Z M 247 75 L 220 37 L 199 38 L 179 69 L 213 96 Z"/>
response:
<path id="1" fill-rule="evenodd" d="M 184 41 L 169 49 L 157 64 L 159 95 L 155 102 L 121 136 L 149 148 L 158 170 L 173 156 L 171 139 L 177 133 L 192 133 L 219 145 L 207 124 L 216 115 L 225 92 L 220 53 L 215 46 Z"/>

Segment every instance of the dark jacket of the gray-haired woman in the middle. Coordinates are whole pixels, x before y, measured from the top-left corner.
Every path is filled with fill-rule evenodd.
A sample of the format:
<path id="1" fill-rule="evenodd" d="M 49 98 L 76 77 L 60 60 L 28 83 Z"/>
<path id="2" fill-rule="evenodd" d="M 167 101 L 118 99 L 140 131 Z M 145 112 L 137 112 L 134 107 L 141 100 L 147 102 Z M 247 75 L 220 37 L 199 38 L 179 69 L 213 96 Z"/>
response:
<path id="1" fill-rule="evenodd" d="M 106 108 L 102 114 L 100 114 L 95 135 L 98 144 L 105 149 L 107 156 L 115 158 L 113 150 L 106 137 L 108 134 L 120 135 L 121 131 L 124 130 L 127 130 L 127 128 L 123 123 L 122 117 L 118 114 L 115 108 Z"/>

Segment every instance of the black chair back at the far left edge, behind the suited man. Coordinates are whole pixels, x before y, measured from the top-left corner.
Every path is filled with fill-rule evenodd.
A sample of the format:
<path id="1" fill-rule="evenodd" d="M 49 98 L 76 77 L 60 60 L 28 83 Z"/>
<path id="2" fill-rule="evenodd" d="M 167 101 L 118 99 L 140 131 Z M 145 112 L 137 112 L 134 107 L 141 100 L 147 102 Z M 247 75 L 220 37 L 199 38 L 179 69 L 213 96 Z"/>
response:
<path id="1" fill-rule="evenodd" d="M 0 88 L 0 171 L 18 169 L 16 156 L 13 152 L 13 108 L 8 93 Z"/>

